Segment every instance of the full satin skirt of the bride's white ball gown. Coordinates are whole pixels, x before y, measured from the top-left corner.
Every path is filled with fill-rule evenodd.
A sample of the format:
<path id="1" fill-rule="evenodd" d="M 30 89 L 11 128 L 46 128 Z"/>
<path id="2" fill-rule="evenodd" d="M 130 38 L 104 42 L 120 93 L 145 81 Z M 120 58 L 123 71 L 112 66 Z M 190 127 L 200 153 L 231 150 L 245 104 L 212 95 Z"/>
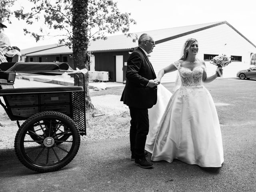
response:
<path id="1" fill-rule="evenodd" d="M 149 110 L 151 130 L 145 150 L 152 153 L 152 161 L 178 159 L 201 167 L 221 167 L 220 124 L 208 90 L 204 86 L 182 86 L 167 104 L 164 102 Z M 159 123 L 158 114 L 162 116 Z"/>

